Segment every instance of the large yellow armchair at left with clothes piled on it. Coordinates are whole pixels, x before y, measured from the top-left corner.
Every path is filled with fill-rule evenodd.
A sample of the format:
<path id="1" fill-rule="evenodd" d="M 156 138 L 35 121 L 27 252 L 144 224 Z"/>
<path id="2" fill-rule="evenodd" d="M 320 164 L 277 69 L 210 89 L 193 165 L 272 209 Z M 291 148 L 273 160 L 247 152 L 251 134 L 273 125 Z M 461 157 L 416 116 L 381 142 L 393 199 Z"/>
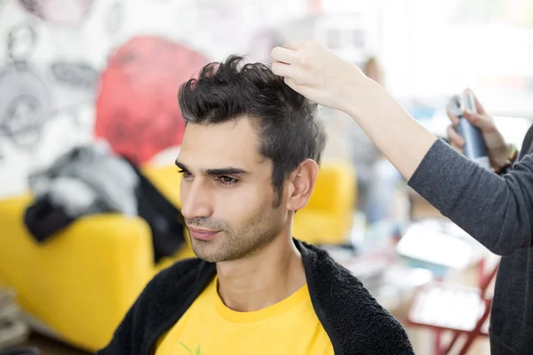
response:
<path id="1" fill-rule="evenodd" d="M 52 334 L 94 351 L 154 273 L 149 227 L 140 218 L 91 216 L 38 245 L 23 223 L 30 202 L 0 202 L 0 283 Z"/>

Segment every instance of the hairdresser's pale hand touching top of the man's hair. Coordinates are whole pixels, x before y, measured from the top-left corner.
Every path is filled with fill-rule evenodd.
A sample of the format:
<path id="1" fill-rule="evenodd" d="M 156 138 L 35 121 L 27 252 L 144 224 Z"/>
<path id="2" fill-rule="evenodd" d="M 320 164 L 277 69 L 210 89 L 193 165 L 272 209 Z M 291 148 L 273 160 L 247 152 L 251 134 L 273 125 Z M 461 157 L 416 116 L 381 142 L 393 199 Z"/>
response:
<path id="1" fill-rule="evenodd" d="M 272 71 L 294 91 L 322 106 L 347 110 L 354 100 L 370 96 L 367 88 L 377 85 L 362 71 L 313 41 L 287 43 L 272 50 Z M 353 93 L 357 92 L 354 97 Z"/>

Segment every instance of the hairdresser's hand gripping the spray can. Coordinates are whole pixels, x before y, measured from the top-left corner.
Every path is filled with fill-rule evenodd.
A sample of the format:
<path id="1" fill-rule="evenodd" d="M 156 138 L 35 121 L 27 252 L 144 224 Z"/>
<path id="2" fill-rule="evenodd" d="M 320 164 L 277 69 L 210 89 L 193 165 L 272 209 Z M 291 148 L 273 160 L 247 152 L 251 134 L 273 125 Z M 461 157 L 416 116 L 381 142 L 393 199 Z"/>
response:
<path id="1" fill-rule="evenodd" d="M 497 169 L 504 165 L 505 159 L 511 154 L 511 147 L 505 143 L 505 139 L 500 131 L 497 130 L 494 120 L 487 114 L 477 98 L 475 99 L 475 107 L 477 113 L 465 111 L 465 118 L 481 130 L 489 151 L 490 166 Z M 451 120 L 451 125 L 448 127 L 450 145 L 458 152 L 462 152 L 463 146 L 465 146 L 465 139 L 455 130 L 455 127 L 459 124 L 459 118 L 449 111 L 448 116 Z"/>

